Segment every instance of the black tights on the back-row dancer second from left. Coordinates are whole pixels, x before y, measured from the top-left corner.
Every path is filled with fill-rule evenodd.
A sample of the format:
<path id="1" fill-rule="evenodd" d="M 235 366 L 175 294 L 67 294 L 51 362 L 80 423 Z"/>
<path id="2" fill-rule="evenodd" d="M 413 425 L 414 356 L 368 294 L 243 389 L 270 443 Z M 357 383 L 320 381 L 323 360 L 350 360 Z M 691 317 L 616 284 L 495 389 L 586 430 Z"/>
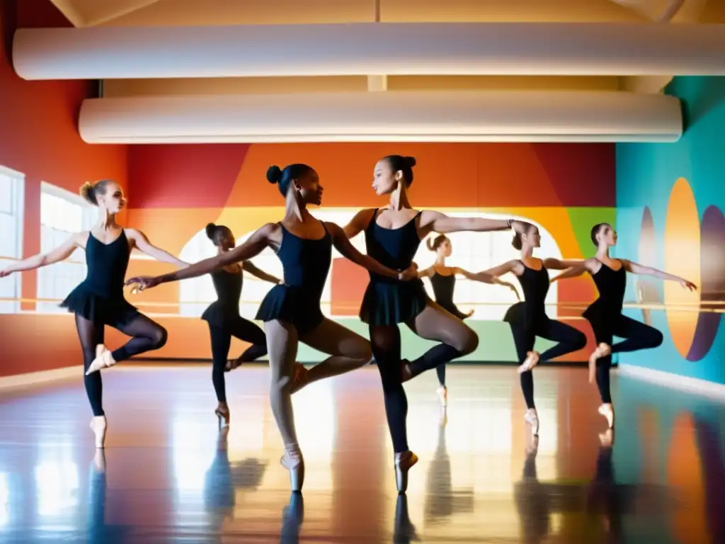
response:
<path id="1" fill-rule="evenodd" d="M 212 384 L 220 403 L 226 402 L 226 370 L 231 337 L 239 338 L 252 344 L 239 356 L 239 360 L 247 362 L 267 355 L 267 337 L 257 325 L 241 316 L 228 318 L 223 326 L 209 323 L 209 334 L 212 339 Z"/>

